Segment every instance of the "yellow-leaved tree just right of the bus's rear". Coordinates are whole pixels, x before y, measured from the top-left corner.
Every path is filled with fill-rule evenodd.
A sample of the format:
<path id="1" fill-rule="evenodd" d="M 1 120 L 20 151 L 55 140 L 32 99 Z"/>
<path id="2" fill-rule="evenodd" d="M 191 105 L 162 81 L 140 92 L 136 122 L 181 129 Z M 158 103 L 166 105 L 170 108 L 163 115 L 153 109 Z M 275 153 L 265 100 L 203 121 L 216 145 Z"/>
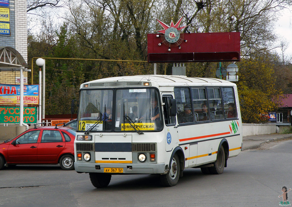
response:
<path id="1" fill-rule="evenodd" d="M 263 114 L 277 108 L 277 101 L 282 94 L 275 88 L 272 77 L 275 68 L 271 55 L 241 59 L 238 62 L 239 81 L 236 82 L 243 123 L 260 123 Z M 272 101 L 273 99 L 273 101 Z"/>

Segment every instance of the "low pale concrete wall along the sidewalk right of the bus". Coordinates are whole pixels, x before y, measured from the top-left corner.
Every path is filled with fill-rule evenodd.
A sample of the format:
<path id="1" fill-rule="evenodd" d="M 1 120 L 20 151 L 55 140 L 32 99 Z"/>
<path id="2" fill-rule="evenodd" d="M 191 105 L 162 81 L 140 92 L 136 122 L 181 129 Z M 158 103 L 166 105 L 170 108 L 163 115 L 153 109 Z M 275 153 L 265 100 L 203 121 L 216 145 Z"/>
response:
<path id="1" fill-rule="evenodd" d="M 242 136 L 276 133 L 276 124 L 242 124 Z"/>

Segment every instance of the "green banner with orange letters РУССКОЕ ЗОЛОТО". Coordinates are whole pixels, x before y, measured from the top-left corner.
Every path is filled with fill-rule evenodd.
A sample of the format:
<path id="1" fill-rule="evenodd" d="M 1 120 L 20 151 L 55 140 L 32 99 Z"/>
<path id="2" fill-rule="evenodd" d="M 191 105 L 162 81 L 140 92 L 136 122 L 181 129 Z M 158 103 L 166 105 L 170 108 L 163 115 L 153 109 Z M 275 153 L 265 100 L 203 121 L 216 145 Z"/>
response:
<path id="1" fill-rule="evenodd" d="M 23 108 L 23 123 L 36 124 L 37 107 Z M 19 123 L 20 110 L 19 107 L 0 107 L 0 124 Z"/>

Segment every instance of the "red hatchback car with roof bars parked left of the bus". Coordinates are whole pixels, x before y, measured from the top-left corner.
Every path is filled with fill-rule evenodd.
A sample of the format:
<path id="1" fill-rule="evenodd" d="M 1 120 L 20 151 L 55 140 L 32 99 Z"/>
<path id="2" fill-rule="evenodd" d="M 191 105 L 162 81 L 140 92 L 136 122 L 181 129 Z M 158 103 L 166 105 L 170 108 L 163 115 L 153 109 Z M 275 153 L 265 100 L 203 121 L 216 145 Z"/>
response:
<path id="1" fill-rule="evenodd" d="M 58 164 L 74 169 L 75 130 L 65 126 L 28 129 L 0 143 L 0 170 L 9 165 Z"/>

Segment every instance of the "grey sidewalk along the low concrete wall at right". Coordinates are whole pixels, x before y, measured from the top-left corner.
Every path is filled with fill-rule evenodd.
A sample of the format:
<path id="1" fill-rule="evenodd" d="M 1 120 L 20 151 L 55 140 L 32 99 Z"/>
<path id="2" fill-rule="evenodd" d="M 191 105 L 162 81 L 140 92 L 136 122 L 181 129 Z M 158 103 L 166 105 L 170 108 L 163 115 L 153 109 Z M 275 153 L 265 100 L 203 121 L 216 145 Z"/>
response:
<path id="1" fill-rule="evenodd" d="M 261 134 L 242 137 L 242 151 L 260 148 L 264 143 L 292 139 L 292 134 Z"/>

